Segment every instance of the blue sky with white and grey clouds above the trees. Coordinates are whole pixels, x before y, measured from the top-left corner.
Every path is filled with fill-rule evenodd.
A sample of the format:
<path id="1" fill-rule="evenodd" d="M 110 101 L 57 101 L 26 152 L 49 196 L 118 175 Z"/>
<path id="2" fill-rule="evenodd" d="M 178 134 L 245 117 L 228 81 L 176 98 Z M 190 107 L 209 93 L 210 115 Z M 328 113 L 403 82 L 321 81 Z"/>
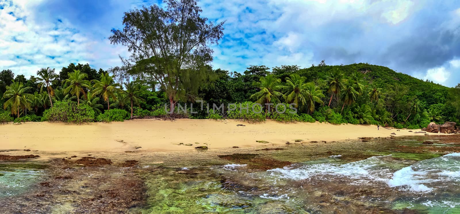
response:
<path id="1" fill-rule="evenodd" d="M 159 0 L 0 0 L 0 70 L 121 65 L 112 45 L 125 11 Z M 460 1 L 201 0 L 202 16 L 226 21 L 213 68 L 309 68 L 368 62 L 453 87 L 460 83 Z"/>

